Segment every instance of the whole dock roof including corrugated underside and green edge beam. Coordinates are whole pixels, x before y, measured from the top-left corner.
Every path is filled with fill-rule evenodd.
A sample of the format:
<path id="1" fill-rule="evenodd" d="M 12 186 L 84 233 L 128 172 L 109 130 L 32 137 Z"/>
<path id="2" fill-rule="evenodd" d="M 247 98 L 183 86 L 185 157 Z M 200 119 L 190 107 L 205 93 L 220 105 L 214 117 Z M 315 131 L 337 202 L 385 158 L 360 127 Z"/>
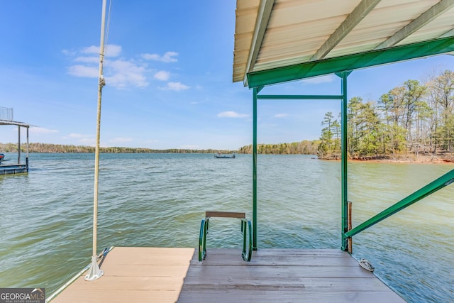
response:
<path id="1" fill-rule="evenodd" d="M 237 0 L 233 82 L 261 87 L 454 52 L 454 0 Z"/>

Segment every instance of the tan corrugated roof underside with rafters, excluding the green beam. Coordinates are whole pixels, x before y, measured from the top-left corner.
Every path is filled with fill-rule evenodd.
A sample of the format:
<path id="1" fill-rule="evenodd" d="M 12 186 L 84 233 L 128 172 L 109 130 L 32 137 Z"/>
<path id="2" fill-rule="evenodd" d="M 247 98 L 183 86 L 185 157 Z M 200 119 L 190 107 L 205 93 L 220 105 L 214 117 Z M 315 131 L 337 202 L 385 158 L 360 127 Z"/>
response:
<path id="1" fill-rule="evenodd" d="M 454 0 L 237 0 L 236 16 L 233 82 L 246 84 L 248 72 L 445 37 Z"/>

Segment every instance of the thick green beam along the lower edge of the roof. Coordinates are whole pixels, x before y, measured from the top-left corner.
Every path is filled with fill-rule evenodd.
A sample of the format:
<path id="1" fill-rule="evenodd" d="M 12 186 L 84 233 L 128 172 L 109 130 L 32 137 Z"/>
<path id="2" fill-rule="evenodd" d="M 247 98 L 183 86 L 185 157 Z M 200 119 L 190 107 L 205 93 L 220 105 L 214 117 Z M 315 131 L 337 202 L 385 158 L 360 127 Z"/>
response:
<path id="1" fill-rule="evenodd" d="M 365 53 L 332 57 L 272 70 L 248 73 L 250 88 L 333 74 L 345 70 L 384 65 L 454 51 L 454 37 L 440 38 L 408 45 L 394 46 Z"/>

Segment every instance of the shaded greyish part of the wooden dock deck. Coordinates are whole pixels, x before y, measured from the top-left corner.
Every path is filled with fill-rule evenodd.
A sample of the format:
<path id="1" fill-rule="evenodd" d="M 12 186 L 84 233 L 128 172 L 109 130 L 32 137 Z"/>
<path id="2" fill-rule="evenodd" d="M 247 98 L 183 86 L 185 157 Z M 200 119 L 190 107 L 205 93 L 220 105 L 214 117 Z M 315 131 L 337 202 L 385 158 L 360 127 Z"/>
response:
<path id="1" fill-rule="evenodd" d="M 191 261 L 178 302 L 404 302 L 341 250 L 209 250 Z"/>

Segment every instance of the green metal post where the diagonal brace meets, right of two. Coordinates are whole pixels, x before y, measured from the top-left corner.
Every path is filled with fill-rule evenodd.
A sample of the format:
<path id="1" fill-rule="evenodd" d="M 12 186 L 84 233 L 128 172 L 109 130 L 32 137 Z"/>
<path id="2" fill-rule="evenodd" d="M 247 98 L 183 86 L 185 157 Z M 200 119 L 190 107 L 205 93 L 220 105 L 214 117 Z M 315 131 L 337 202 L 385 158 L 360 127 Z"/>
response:
<path id="1" fill-rule="evenodd" d="M 347 152 L 347 77 L 351 71 L 336 73 L 342 78 L 342 109 L 341 109 L 341 180 L 342 180 L 342 243 L 341 249 L 348 250 L 348 238 L 345 233 L 348 231 L 348 152 Z"/>

